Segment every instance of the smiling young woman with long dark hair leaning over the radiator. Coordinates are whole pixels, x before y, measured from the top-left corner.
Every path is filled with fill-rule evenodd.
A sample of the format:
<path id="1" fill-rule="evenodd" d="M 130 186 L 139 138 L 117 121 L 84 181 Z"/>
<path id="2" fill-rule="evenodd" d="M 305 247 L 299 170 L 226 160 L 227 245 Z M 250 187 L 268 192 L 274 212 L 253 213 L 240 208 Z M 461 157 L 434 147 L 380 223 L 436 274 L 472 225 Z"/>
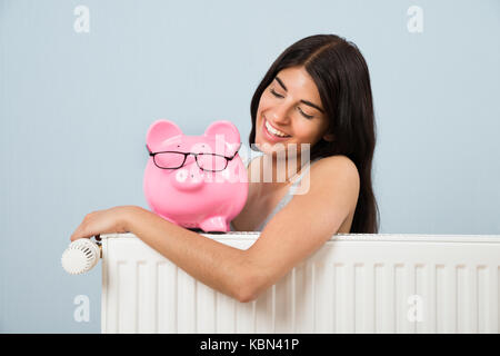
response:
<path id="1" fill-rule="evenodd" d="M 334 34 L 293 43 L 268 70 L 250 108 L 249 144 L 263 156 L 248 167 L 248 200 L 231 221 L 233 230 L 261 230 L 249 249 L 226 246 L 137 206 L 87 215 L 71 240 L 133 233 L 196 279 L 251 301 L 334 234 L 378 233 L 372 93 L 356 44 Z M 286 160 L 301 162 L 301 147 L 309 147 L 312 164 L 298 164 L 298 170 L 287 170 L 287 179 L 277 181 L 278 147 L 289 145 L 297 145 L 298 156 L 284 155 Z M 261 179 L 253 182 L 258 165 Z M 262 174 L 269 167 L 273 177 L 266 182 Z M 304 172 L 309 188 L 292 196 Z"/>

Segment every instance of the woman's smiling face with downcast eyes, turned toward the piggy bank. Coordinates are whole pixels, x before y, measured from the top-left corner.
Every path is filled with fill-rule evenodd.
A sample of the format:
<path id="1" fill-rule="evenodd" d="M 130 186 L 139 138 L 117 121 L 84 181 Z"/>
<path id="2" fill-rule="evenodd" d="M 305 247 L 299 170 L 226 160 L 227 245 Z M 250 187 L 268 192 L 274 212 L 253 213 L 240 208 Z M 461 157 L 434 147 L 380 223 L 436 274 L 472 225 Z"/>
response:
<path id="1" fill-rule="evenodd" d="M 303 67 L 286 68 L 274 77 L 260 97 L 256 125 L 256 144 L 264 154 L 290 144 L 300 152 L 303 144 L 312 148 L 321 138 L 332 139 L 324 135 L 328 119 L 318 88 Z"/>

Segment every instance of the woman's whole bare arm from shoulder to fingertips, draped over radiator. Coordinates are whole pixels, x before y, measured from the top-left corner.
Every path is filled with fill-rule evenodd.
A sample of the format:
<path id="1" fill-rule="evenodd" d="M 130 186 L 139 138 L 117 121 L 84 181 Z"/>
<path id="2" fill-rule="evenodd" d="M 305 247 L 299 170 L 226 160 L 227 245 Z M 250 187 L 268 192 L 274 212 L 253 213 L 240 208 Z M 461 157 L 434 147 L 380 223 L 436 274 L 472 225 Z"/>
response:
<path id="1" fill-rule="evenodd" d="M 359 176 L 348 158 L 321 159 L 311 167 L 309 177 L 309 191 L 294 196 L 247 250 L 130 206 L 89 214 L 71 240 L 97 234 L 133 233 L 196 279 L 239 301 L 251 301 L 337 234 L 356 209 Z"/>

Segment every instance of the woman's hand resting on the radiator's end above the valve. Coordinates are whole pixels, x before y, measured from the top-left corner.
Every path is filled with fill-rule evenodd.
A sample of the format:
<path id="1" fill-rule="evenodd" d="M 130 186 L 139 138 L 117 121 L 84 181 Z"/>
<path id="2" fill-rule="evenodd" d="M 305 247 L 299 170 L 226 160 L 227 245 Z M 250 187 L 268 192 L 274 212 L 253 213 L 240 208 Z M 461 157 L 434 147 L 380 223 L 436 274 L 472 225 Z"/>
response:
<path id="1" fill-rule="evenodd" d="M 87 214 L 71 235 L 71 241 L 100 234 L 129 233 L 128 222 L 138 207 L 120 206 Z"/>

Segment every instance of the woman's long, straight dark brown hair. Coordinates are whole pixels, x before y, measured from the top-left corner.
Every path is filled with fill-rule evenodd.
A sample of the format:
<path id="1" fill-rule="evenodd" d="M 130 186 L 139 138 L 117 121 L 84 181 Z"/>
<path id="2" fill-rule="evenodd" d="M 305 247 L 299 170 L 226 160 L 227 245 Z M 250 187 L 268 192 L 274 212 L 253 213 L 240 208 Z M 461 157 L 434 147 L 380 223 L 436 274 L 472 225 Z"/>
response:
<path id="1" fill-rule="evenodd" d="M 310 151 L 310 159 L 343 155 L 360 175 L 360 192 L 352 221 L 352 234 L 378 234 L 379 210 L 372 189 L 371 167 L 376 146 L 376 122 L 370 75 L 358 47 L 336 34 L 303 38 L 287 48 L 269 68 L 250 105 L 256 141 L 256 119 L 260 97 L 278 72 L 289 67 L 304 67 L 313 79 L 333 134 L 332 142 L 321 138 Z"/>

